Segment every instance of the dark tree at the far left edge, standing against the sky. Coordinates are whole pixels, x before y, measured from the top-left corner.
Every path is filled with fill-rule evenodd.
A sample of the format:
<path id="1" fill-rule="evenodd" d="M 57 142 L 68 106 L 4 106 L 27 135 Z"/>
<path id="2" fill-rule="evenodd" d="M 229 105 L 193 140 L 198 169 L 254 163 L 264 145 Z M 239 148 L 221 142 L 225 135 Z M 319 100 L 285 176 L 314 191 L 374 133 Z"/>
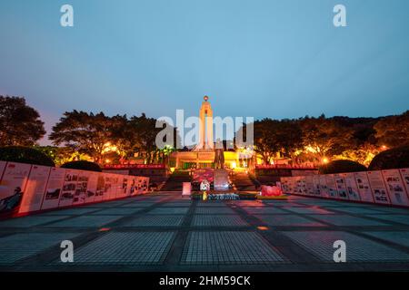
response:
<path id="1" fill-rule="evenodd" d="M 0 96 L 0 146 L 33 146 L 44 135 L 44 122 L 25 98 Z"/>

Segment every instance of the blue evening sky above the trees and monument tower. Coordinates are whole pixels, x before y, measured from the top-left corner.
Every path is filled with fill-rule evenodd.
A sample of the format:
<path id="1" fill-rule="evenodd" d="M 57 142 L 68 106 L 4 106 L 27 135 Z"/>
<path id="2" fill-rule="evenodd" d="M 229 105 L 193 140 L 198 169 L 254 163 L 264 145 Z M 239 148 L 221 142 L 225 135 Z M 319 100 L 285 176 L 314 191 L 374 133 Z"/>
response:
<path id="1" fill-rule="evenodd" d="M 205 94 L 222 117 L 397 114 L 408 35 L 407 0 L 0 0 L 0 94 L 47 131 L 73 109 L 196 115 Z"/>

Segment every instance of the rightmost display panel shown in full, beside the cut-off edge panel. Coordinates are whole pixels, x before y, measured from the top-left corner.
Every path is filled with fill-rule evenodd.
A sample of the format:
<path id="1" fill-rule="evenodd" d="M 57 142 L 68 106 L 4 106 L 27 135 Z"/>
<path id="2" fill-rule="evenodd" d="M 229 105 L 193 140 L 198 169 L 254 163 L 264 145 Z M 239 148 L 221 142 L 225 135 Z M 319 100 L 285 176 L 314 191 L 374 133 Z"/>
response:
<path id="1" fill-rule="evenodd" d="M 391 203 L 396 206 L 409 206 L 409 198 L 399 169 L 383 170 L 382 174 Z"/>

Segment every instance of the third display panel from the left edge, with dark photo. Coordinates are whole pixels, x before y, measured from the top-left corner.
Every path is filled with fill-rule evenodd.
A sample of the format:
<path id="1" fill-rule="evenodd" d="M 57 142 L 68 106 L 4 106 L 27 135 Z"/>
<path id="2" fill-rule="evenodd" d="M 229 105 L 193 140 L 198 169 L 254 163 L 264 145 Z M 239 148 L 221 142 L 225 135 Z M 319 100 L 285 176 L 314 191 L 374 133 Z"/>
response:
<path id="1" fill-rule="evenodd" d="M 65 179 L 65 170 L 61 168 L 52 168 L 50 170 L 41 209 L 58 208 Z"/>

